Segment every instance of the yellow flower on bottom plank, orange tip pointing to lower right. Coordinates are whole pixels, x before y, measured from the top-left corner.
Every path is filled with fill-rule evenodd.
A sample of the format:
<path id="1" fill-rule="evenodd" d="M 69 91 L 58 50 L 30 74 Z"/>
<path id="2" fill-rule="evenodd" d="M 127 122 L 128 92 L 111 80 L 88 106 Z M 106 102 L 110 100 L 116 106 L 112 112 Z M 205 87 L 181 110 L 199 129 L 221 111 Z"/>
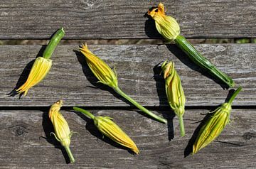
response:
<path id="1" fill-rule="evenodd" d="M 139 149 L 137 148 L 134 141 L 132 141 L 129 136 L 127 136 L 122 129 L 117 126 L 117 124 L 112 121 L 113 119 L 109 116 L 93 116 L 89 111 L 84 109 L 80 109 L 78 107 L 73 107 L 75 111 L 79 111 L 82 114 L 90 117 L 93 121 L 97 129 L 108 138 L 112 139 L 112 141 L 119 143 L 122 146 L 130 148 L 134 153 L 139 154 Z"/>

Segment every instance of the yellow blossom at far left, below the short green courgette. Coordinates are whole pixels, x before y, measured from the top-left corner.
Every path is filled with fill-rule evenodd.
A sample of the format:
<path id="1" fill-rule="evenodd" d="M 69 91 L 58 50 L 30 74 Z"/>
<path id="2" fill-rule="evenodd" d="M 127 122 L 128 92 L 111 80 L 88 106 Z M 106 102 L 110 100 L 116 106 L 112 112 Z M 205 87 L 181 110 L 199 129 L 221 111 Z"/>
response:
<path id="1" fill-rule="evenodd" d="M 28 89 L 38 84 L 39 82 L 41 82 L 41 80 L 43 80 L 44 77 L 46 77 L 51 66 L 52 60 L 43 57 L 36 58 L 31 68 L 31 72 L 28 75 L 28 79 L 21 87 L 16 89 L 16 91 L 19 94 L 24 92 L 24 95 L 26 96 L 26 94 L 28 93 Z"/>

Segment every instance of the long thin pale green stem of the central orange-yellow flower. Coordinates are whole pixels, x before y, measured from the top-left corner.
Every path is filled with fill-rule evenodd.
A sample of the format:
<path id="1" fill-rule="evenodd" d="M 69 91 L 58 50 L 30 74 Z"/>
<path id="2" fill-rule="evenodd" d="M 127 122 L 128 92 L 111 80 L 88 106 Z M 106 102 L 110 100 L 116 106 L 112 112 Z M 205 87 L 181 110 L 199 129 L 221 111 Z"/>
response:
<path id="1" fill-rule="evenodd" d="M 122 97 L 124 97 L 125 99 L 127 99 L 129 102 L 131 102 L 132 104 L 134 104 L 135 107 L 137 107 L 138 109 L 140 109 L 141 111 L 143 111 L 144 113 L 146 113 L 147 115 L 151 116 L 153 119 L 156 119 L 157 121 L 160 121 L 161 123 L 166 124 L 167 121 L 166 119 L 161 118 L 160 116 L 157 116 L 156 114 L 152 113 L 151 111 L 149 111 L 148 109 L 146 109 L 145 107 L 142 107 L 142 105 L 140 105 L 139 103 L 137 103 L 134 99 L 132 99 L 131 97 L 127 96 L 127 94 L 125 94 L 124 92 L 122 92 L 121 89 L 119 89 L 119 87 L 115 87 L 113 88 L 114 91 L 116 91 L 118 94 L 120 94 Z"/>

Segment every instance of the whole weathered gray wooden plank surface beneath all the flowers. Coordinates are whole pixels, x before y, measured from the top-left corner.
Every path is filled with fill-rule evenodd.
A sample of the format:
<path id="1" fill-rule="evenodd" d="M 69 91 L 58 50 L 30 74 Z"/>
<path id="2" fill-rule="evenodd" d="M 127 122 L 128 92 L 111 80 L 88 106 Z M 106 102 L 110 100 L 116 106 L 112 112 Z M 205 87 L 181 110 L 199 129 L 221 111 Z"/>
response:
<path id="1" fill-rule="evenodd" d="M 256 1 L 161 1 L 188 38 L 256 38 Z M 0 40 L 48 39 L 65 28 L 65 39 L 161 38 L 154 21 L 144 17 L 159 1 L 1 1 Z M 159 116 L 160 124 L 144 116 L 112 89 L 97 84 L 78 45 L 58 45 L 53 67 L 26 97 L 14 89 L 26 80 L 45 46 L 0 45 L 0 168 L 255 168 L 256 165 L 256 45 L 195 45 L 206 58 L 233 77 L 242 91 L 233 102 L 231 126 L 191 156 L 191 145 L 206 113 L 230 97 L 225 86 L 194 65 L 176 45 L 89 45 L 111 67 L 119 87 Z M 172 60 L 186 94 L 186 136 L 166 103 L 164 80 L 157 66 Z M 48 109 L 58 99 L 70 129 L 75 164 L 50 136 Z M 71 111 L 85 107 L 97 116 L 111 116 L 137 143 L 134 156 L 102 135 L 92 121 Z"/>

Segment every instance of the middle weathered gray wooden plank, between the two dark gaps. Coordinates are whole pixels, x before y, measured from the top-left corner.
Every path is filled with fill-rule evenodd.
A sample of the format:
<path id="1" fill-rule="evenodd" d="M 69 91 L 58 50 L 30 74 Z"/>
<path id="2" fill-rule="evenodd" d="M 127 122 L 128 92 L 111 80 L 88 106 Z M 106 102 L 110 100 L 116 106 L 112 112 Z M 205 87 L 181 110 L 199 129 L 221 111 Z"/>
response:
<path id="1" fill-rule="evenodd" d="M 176 45 L 88 47 L 110 66 L 116 67 L 119 87 L 144 106 L 168 106 L 164 79 L 156 68 L 159 62 L 166 59 L 173 60 L 176 64 L 186 94 L 186 106 L 214 106 L 222 104 L 228 96 L 229 90 L 224 90 L 219 83 L 207 75 L 202 75 L 202 71 Z M 235 106 L 255 106 L 255 47 L 255 44 L 196 45 L 206 58 L 233 77 L 236 87 L 243 87 L 234 101 Z M 49 106 L 56 99 L 65 99 L 66 106 L 129 106 L 112 89 L 96 83 L 97 79 L 87 67 L 84 57 L 73 51 L 76 48 L 76 45 L 58 46 L 52 57 L 53 67 L 46 79 L 31 88 L 26 97 L 18 99 L 18 95 L 10 97 L 7 94 L 16 87 L 16 83 L 17 86 L 23 84 L 29 72 L 28 67 L 32 65 L 31 60 L 36 58 L 42 48 L 40 45 L 0 46 L 0 106 Z"/>

